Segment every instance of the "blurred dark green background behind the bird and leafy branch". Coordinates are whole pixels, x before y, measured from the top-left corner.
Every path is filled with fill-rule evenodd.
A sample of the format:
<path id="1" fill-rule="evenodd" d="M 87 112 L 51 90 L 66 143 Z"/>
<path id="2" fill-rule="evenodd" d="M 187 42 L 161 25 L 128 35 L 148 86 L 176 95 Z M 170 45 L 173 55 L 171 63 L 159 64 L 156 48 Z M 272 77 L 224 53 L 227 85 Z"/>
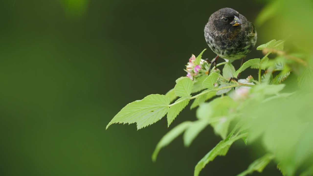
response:
<path id="1" fill-rule="evenodd" d="M 190 148 L 179 137 L 152 163 L 156 143 L 169 130 L 165 118 L 139 131 L 135 124 L 105 126 L 127 103 L 165 94 L 186 75 L 191 54 L 208 48 L 204 25 L 223 7 L 254 22 L 264 4 L 2 0 L 1 175 L 192 175 L 220 141 L 211 127 Z M 267 42 L 262 28 L 257 31 L 257 45 Z M 204 53 L 213 57 L 211 50 Z M 247 58 L 259 57 L 254 49 Z M 187 106 L 170 128 L 195 119 Z M 201 175 L 234 175 L 263 155 L 243 144 L 238 141 Z M 280 172 L 273 164 L 262 175 Z"/>

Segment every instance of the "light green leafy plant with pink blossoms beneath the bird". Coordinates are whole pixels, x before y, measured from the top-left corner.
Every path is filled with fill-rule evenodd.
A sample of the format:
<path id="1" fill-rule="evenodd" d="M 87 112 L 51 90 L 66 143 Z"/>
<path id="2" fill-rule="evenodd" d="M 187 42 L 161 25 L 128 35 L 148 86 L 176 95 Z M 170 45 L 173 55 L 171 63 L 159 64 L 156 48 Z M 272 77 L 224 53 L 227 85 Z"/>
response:
<path id="1" fill-rule="evenodd" d="M 278 6 L 282 3 L 281 0 L 271 2 L 259 15 L 257 23 L 264 23 L 276 13 L 281 26 L 287 28 L 289 24 L 283 23 L 283 20 L 286 17 L 288 20 L 299 19 L 297 14 L 300 14 L 301 8 L 295 7 L 293 1 L 286 2 L 283 6 Z M 305 6 L 309 4 L 309 1 L 304 3 Z M 282 10 L 284 8 L 286 10 Z M 290 16 L 290 9 L 296 13 Z M 305 14 L 311 13 L 312 11 L 305 11 Z M 295 21 L 299 24 L 296 29 L 300 25 L 305 26 L 304 22 Z M 312 25 L 306 27 L 311 29 Z M 288 26 L 286 30 L 291 29 Z M 304 28 L 299 30 L 302 29 L 305 32 Z M 195 176 L 214 158 L 226 155 L 233 142 L 239 139 L 247 145 L 259 140 L 267 151 L 240 176 L 254 171 L 262 172 L 271 161 L 277 164 L 283 175 L 312 175 L 313 69 L 310 63 L 313 54 L 310 47 L 307 47 L 311 46 L 311 34 L 304 33 L 304 36 L 306 38 L 296 36 L 290 40 L 294 45 L 304 42 L 294 47 L 297 49 L 286 52 L 284 40 L 271 40 L 257 47 L 257 50 L 263 51 L 263 58 L 248 60 L 238 70 L 231 63 L 222 62 L 216 65 L 217 68 L 213 67 L 210 75 L 207 75 L 208 63 L 202 60 L 205 50 L 198 57 L 192 55 L 186 67 L 187 77 L 178 78 L 172 90 L 166 95 L 153 94 L 129 103 L 106 128 L 113 123 L 136 123 L 137 129 L 141 129 L 159 121 L 166 114 L 170 126 L 193 100 L 190 109 L 198 107 L 198 120 L 182 122 L 164 135 L 152 154 L 153 161 L 156 161 L 160 150 L 180 134 L 183 133 L 184 145 L 189 146 L 210 125 L 222 140 L 196 164 Z M 218 69 L 221 66 L 222 72 Z M 256 80 L 249 76 L 238 82 L 229 82 L 231 77 L 237 77 L 248 68 L 258 70 Z M 293 76 L 288 78 L 290 75 Z"/>

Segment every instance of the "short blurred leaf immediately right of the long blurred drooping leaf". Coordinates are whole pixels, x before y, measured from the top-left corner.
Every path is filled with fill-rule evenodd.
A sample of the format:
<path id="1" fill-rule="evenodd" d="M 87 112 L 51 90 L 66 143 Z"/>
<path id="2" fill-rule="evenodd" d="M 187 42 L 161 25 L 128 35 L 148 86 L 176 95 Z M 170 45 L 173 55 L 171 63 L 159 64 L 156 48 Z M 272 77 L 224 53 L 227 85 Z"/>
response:
<path id="1" fill-rule="evenodd" d="M 208 126 L 208 121 L 206 120 L 198 120 L 196 122 L 192 122 L 192 124 L 187 128 L 183 135 L 184 145 L 189 147 L 192 141 L 198 136 L 198 134 Z"/>

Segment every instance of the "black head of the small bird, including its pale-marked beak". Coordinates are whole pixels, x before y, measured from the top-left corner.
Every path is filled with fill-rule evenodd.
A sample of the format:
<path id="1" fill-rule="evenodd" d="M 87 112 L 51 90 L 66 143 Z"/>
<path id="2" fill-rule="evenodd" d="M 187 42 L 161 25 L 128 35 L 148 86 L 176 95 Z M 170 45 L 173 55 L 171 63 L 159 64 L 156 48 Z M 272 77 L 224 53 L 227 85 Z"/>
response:
<path id="1" fill-rule="evenodd" d="M 238 31 L 241 30 L 242 22 L 239 13 L 232 8 L 221 8 L 214 12 L 210 19 L 215 28 L 219 31 Z"/>

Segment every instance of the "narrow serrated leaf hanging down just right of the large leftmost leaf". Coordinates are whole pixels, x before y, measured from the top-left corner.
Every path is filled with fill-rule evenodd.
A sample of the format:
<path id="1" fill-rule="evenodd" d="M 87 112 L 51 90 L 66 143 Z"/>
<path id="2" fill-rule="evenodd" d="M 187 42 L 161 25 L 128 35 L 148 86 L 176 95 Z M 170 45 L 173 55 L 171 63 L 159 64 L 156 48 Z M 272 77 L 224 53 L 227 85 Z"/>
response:
<path id="1" fill-rule="evenodd" d="M 180 102 L 179 102 L 180 101 Z M 167 113 L 167 126 L 169 127 L 170 124 L 174 121 L 176 116 L 182 111 L 189 103 L 189 99 L 185 97 L 181 97 L 175 101 L 175 105 L 171 106 Z"/>

